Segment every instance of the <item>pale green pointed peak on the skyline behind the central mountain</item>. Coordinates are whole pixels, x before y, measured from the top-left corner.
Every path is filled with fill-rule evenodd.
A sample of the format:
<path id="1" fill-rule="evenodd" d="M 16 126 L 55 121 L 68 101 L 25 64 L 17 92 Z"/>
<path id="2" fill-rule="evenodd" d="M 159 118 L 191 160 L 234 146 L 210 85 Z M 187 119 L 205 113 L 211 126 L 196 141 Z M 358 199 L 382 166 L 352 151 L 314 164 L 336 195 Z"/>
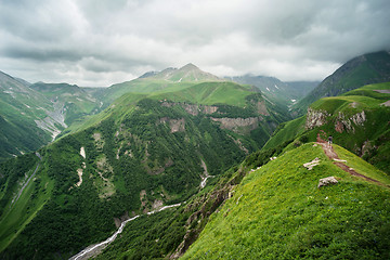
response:
<path id="1" fill-rule="evenodd" d="M 134 80 L 113 84 L 98 93 L 96 98 L 102 100 L 103 107 L 106 107 L 126 93 L 171 92 L 206 81 L 223 80 L 190 63 L 181 68 L 166 68 L 159 73 L 151 72 Z"/>

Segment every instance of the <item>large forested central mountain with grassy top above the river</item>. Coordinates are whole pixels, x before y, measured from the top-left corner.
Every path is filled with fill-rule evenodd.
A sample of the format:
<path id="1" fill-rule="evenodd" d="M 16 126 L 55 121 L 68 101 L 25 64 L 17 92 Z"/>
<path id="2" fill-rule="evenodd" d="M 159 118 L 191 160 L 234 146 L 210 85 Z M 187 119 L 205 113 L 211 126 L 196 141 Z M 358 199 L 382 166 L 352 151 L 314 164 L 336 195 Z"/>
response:
<path id="1" fill-rule="evenodd" d="M 185 202 L 288 118 L 237 83 L 180 88 L 125 94 L 39 154 L 0 165 L 1 257 L 68 258 L 120 220 Z"/>

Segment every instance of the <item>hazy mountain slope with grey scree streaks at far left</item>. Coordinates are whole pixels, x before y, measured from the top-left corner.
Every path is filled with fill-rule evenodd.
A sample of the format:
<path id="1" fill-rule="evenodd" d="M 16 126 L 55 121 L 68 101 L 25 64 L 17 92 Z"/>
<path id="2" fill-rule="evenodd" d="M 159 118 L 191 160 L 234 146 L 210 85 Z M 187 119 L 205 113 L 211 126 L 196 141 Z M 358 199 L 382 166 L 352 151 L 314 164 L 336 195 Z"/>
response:
<path id="1" fill-rule="evenodd" d="M 77 86 L 30 84 L 1 72 L 0 90 L 0 160 L 38 150 L 102 105 Z"/>

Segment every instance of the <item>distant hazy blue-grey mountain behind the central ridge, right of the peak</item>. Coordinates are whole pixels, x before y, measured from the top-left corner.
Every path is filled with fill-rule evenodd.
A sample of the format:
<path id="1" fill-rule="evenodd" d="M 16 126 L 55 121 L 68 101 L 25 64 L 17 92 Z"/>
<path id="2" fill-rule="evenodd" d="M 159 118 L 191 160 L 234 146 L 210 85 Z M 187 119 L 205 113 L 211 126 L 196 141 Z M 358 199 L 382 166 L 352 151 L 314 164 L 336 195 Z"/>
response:
<path id="1" fill-rule="evenodd" d="M 266 96 L 287 104 L 294 104 L 295 102 L 301 100 L 318 83 L 315 81 L 283 82 L 274 77 L 252 75 L 225 78 L 237 83 L 255 86 Z"/>

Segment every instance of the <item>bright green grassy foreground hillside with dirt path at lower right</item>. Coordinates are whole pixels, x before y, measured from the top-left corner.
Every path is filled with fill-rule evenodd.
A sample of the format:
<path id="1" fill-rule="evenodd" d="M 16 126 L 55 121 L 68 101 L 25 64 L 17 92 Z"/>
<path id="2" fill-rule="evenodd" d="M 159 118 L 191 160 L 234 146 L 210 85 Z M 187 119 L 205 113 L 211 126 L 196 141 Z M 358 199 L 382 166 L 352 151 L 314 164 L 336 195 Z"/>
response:
<path id="1" fill-rule="evenodd" d="M 353 158 L 356 171 L 390 183 L 364 160 Z M 315 157 L 321 164 L 308 171 L 302 165 Z M 317 188 L 329 176 L 339 183 Z M 309 143 L 250 172 L 183 259 L 388 259 L 389 195 Z"/>

